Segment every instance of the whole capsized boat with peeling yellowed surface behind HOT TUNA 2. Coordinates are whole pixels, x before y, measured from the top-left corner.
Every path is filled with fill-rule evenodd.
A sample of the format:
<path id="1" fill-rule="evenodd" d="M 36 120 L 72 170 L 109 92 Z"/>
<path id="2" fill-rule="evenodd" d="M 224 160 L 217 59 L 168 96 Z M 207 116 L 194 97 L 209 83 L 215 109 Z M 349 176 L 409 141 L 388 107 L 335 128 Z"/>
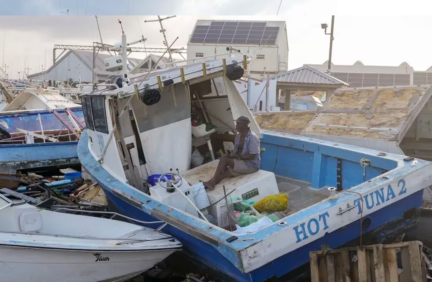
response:
<path id="1" fill-rule="evenodd" d="M 315 111 L 255 113 L 262 129 L 432 160 L 431 85 L 337 89 Z"/>

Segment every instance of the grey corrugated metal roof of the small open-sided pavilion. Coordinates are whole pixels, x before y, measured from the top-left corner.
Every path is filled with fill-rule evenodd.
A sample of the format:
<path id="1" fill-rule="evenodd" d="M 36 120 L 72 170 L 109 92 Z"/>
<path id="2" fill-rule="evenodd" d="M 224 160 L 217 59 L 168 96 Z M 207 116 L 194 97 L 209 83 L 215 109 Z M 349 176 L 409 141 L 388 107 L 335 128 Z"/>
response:
<path id="1" fill-rule="evenodd" d="M 322 71 L 311 66 L 303 66 L 294 70 L 289 70 L 285 73 L 279 73 L 274 76 L 270 76 L 270 79 L 276 79 L 277 82 L 348 85 L 348 83 L 343 82 L 336 77 L 330 76 L 327 73 L 323 73 Z"/>

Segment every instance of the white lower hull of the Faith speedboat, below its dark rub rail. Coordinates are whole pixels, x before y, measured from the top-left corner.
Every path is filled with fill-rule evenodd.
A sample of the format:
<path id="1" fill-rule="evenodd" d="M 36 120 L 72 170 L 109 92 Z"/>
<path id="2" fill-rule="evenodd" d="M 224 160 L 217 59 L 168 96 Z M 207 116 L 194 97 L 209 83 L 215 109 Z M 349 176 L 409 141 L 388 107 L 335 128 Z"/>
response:
<path id="1" fill-rule="evenodd" d="M 101 252 L 0 246 L 0 272 L 2 281 L 8 282 L 124 281 L 174 251 Z"/>

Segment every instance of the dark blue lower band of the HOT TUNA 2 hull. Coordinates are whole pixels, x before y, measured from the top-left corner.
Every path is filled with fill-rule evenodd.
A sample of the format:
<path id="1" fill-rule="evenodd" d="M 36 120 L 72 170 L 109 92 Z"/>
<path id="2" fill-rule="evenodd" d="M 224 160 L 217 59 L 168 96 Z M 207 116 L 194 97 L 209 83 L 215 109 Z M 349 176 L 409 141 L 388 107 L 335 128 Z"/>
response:
<path id="1" fill-rule="evenodd" d="M 111 193 L 111 189 L 106 189 L 102 187 L 107 196 L 108 202 L 110 204 L 110 209 L 117 209 L 124 215 L 139 219 L 142 221 L 155 221 L 158 220 L 152 215 L 144 212 L 142 209 L 138 209 L 127 201 L 121 199 L 120 197 Z M 400 221 L 409 222 L 412 219 L 405 219 L 405 212 L 419 208 L 422 204 L 422 193 L 423 190 L 419 190 L 402 200 L 397 201 L 397 203 L 386 206 L 379 209 L 376 212 L 366 216 L 365 219 L 371 219 L 371 224 L 368 228 L 364 228 L 363 233 L 368 233 L 374 231 L 386 223 Z M 150 228 L 156 228 L 157 225 L 147 225 Z M 320 250 L 321 245 L 329 245 L 330 248 L 337 248 L 341 245 L 354 240 L 359 237 L 360 221 L 346 225 L 345 228 L 340 228 L 337 231 L 328 233 L 322 238 L 306 244 L 299 249 L 296 249 L 290 253 L 287 253 L 258 269 L 251 271 L 250 273 L 242 273 L 239 271 L 226 257 L 224 257 L 212 244 L 206 243 L 191 234 L 187 234 L 184 231 L 175 228 L 171 225 L 167 225 L 163 231 L 167 234 L 171 234 L 177 238 L 183 244 L 183 249 L 192 257 L 205 263 L 210 268 L 221 271 L 224 274 L 232 277 L 241 282 L 257 282 L 269 279 L 272 276 L 280 277 L 286 273 L 302 266 L 309 261 L 309 252 L 312 250 Z M 343 238 L 343 239 L 342 239 Z M 379 240 L 379 238 L 377 238 Z"/>

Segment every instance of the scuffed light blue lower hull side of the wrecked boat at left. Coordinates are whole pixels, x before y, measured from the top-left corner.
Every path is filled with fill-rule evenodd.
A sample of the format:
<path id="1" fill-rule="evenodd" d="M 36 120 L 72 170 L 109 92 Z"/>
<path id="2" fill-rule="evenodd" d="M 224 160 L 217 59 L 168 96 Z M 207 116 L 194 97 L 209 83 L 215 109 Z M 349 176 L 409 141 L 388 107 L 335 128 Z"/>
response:
<path id="1" fill-rule="evenodd" d="M 16 170 L 78 165 L 78 141 L 0 145 L 0 166 Z"/>

